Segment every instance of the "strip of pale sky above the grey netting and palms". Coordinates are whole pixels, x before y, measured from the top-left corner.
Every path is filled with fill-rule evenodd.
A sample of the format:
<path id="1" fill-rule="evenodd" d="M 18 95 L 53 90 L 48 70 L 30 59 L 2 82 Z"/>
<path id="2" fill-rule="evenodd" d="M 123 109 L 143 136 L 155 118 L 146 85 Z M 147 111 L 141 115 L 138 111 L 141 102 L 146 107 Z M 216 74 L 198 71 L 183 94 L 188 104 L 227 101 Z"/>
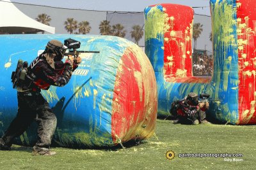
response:
<path id="1" fill-rule="evenodd" d="M 6 1 L 6 0 L 2 0 Z M 210 15 L 209 0 L 10 0 L 17 3 L 39 4 L 55 6 L 60 8 L 79 8 L 83 10 L 102 10 L 119 12 L 143 12 L 144 8 L 159 3 L 183 4 L 187 6 L 207 6 L 205 8 L 194 8 L 195 13 Z"/>

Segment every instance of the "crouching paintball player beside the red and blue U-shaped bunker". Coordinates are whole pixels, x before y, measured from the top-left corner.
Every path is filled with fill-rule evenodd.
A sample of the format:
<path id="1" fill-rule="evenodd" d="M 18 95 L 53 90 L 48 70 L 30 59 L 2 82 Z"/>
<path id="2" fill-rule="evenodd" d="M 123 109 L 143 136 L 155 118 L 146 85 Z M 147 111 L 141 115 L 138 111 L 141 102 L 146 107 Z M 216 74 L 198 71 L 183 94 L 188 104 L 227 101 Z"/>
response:
<path id="1" fill-rule="evenodd" d="M 209 98 L 209 95 L 202 93 L 200 97 Z M 177 100 L 172 103 L 170 113 L 175 118 L 173 123 L 191 123 L 198 125 L 199 123 L 209 123 L 206 118 L 205 111 L 209 109 L 209 102 L 199 102 L 196 93 L 189 93 L 188 97 Z"/>

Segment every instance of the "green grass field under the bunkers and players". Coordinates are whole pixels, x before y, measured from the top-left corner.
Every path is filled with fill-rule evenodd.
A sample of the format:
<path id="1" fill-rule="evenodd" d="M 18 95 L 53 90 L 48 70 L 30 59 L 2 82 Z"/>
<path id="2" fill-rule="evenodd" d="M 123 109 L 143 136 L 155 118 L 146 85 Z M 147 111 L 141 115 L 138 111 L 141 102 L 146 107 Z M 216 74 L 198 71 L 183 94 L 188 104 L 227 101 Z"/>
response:
<path id="1" fill-rule="evenodd" d="M 52 157 L 32 156 L 32 148 L 0 151 L 0 169 L 255 169 L 256 126 L 173 125 L 157 120 L 156 136 L 140 144 L 72 150 L 52 148 Z M 175 157 L 166 158 L 172 150 Z M 186 157 L 182 153 L 242 153 L 243 157 Z"/>

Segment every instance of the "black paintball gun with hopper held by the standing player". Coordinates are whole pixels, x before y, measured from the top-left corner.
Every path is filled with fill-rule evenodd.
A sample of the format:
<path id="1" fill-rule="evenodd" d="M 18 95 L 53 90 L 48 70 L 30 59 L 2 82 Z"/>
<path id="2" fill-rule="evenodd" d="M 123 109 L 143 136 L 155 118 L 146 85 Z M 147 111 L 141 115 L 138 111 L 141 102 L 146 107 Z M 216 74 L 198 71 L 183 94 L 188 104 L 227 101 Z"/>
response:
<path id="1" fill-rule="evenodd" d="M 68 38 L 67 40 L 64 40 L 64 45 L 67 46 L 68 52 L 65 53 L 65 56 L 74 56 L 77 58 L 79 53 L 100 53 L 99 51 L 92 51 L 92 50 L 77 50 L 80 48 L 81 42 L 77 40 L 73 40 L 71 38 Z"/>

